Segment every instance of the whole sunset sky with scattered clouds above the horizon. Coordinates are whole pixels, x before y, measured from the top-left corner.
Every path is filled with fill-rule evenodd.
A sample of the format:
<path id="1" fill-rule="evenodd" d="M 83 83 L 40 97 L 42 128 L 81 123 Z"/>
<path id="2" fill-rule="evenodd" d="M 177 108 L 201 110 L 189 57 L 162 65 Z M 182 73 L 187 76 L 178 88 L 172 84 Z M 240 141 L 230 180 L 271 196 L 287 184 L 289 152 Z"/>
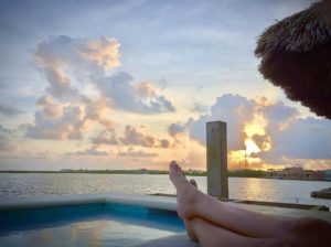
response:
<path id="1" fill-rule="evenodd" d="M 0 2 L 0 170 L 331 168 L 331 121 L 258 73 L 256 41 L 312 0 Z"/>

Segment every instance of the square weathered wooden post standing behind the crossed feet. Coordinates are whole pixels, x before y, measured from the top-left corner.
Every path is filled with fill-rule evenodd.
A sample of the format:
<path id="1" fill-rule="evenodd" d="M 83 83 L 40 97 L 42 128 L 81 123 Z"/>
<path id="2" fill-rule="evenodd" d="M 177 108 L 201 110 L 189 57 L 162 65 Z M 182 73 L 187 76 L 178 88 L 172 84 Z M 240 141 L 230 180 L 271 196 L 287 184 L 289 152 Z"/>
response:
<path id="1" fill-rule="evenodd" d="M 207 194 L 228 198 L 226 122 L 206 124 Z"/>

